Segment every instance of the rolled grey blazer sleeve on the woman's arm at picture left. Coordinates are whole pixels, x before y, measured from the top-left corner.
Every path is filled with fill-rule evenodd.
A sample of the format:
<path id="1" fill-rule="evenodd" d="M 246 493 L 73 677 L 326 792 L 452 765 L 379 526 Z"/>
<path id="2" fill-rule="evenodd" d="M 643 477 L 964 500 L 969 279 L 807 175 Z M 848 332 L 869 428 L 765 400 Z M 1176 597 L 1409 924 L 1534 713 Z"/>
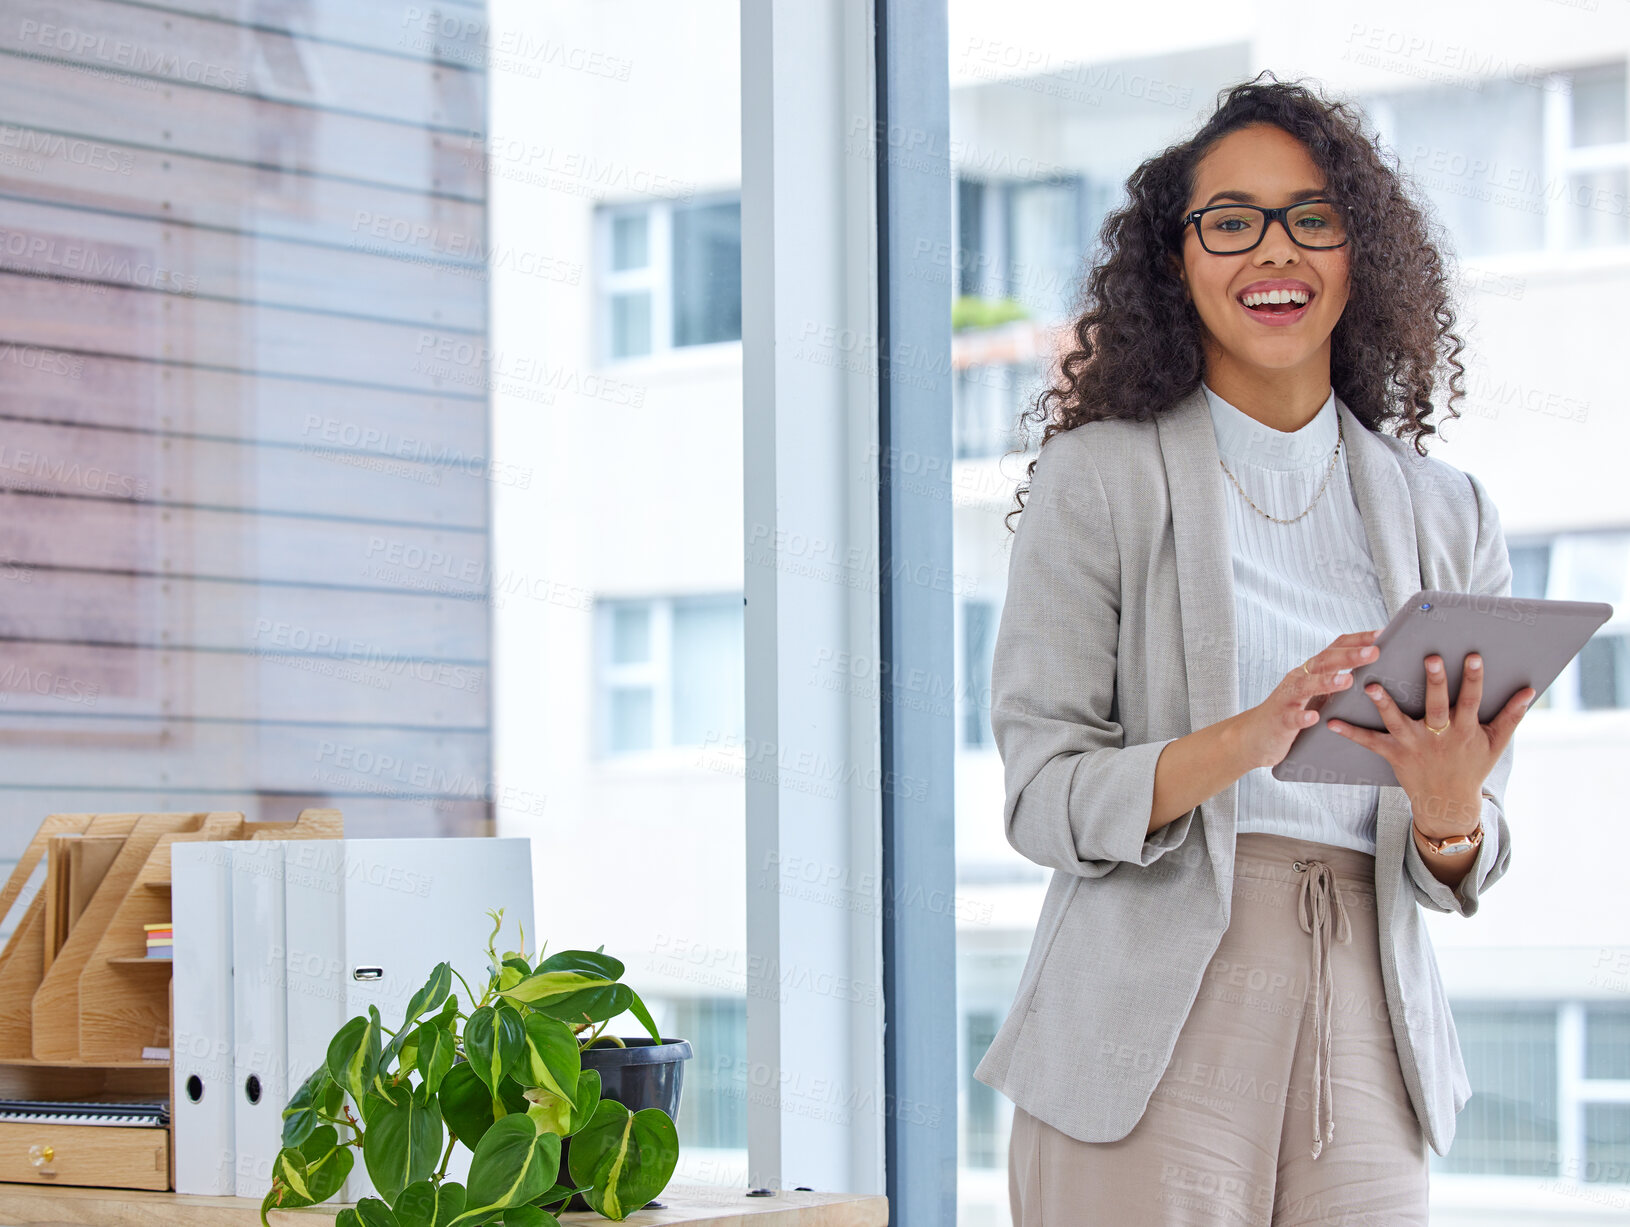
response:
<path id="1" fill-rule="evenodd" d="M 1154 764 L 1177 738 L 1125 745 L 1110 719 L 1120 639 L 1120 549 L 1081 440 L 1042 448 L 1019 517 L 991 655 L 991 732 L 1007 842 L 1084 878 L 1149 865 L 1183 842 L 1195 810 L 1152 836 Z"/>

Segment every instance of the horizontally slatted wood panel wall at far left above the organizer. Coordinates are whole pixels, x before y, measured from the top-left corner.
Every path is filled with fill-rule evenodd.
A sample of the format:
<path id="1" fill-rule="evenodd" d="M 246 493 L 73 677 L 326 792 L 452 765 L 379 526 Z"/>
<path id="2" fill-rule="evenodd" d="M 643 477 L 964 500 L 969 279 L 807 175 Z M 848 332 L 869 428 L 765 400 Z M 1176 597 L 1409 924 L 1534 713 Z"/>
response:
<path id="1" fill-rule="evenodd" d="M 487 41 L 7 2 L 0 859 L 49 811 L 489 829 Z"/>

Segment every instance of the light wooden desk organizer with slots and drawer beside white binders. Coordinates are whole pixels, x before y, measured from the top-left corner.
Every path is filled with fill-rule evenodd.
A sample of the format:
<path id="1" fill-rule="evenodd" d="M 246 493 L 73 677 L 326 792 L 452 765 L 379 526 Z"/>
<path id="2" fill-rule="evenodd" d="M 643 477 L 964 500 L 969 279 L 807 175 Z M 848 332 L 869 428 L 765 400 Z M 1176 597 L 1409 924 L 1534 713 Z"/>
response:
<path id="1" fill-rule="evenodd" d="M 46 891 L 0 950 L 0 1098 L 170 1093 L 168 960 L 147 958 L 143 924 L 170 919 L 170 846 L 196 839 L 339 839 L 339 810 L 292 823 L 241 813 L 54 813 L 0 890 L 10 913 L 57 834 L 121 836 L 124 847 L 46 970 Z M 170 1190 L 168 1128 L 0 1121 L 0 1181 Z"/>

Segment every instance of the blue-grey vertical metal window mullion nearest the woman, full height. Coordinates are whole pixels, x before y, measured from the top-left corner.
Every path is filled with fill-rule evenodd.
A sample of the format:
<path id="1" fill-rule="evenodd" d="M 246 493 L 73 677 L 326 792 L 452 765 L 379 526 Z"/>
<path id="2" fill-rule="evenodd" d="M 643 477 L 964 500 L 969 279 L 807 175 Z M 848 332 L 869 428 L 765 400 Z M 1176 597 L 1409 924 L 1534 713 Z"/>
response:
<path id="1" fill-rule="evenodd" d="M 957 1222 L 955 714 L 893 679 L 955 678 L 945 0 L 875 0 L 883 1048 L 890 1222 Z M 896 145 L 896 135 L 900 145 Z M 947 191 L 947 184 L 952 187 Z M 1002 251 L 1002 284 L 1011 253 Z M 954 704 L 952 704 L 954 707 Z M 918 785 L 918 782 L 921 782 Z M 937 906 L 936 906 L 937 901 Z"/>

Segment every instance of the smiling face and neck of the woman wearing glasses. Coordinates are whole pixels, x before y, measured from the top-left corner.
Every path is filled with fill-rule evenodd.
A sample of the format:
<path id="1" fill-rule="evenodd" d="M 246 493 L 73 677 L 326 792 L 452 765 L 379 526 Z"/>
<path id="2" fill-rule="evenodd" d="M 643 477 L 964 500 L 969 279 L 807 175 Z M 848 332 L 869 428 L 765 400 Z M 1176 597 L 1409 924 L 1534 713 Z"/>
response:
<path id="1" fill-rule="evenodd" d="M 1275 209 L 1324 196 L 1324 174 L 1296 137 L 1252 124 L 1222 137 L 1195 166 L 1185 213 L 1229 202 Z M 1203 324 L 1206 383 L 1242 409 L 1250 401 L 1281 412 L 1291 406 L 1317 409 L 1330 388 L 1330 332 L 1346 308 L 1350 253 L 1351 244 L 1309 251 L 1275 222 L 1252 251 L 1216 256 L 1201 246 L 1195 226 L 1187 226 L 1178 275 Z M 1311 295 L 1309 303 L 1270 314 L 1242 301 L 1247 293 L 1257 301 L 1257 292 L 1275 288 Z"/>

